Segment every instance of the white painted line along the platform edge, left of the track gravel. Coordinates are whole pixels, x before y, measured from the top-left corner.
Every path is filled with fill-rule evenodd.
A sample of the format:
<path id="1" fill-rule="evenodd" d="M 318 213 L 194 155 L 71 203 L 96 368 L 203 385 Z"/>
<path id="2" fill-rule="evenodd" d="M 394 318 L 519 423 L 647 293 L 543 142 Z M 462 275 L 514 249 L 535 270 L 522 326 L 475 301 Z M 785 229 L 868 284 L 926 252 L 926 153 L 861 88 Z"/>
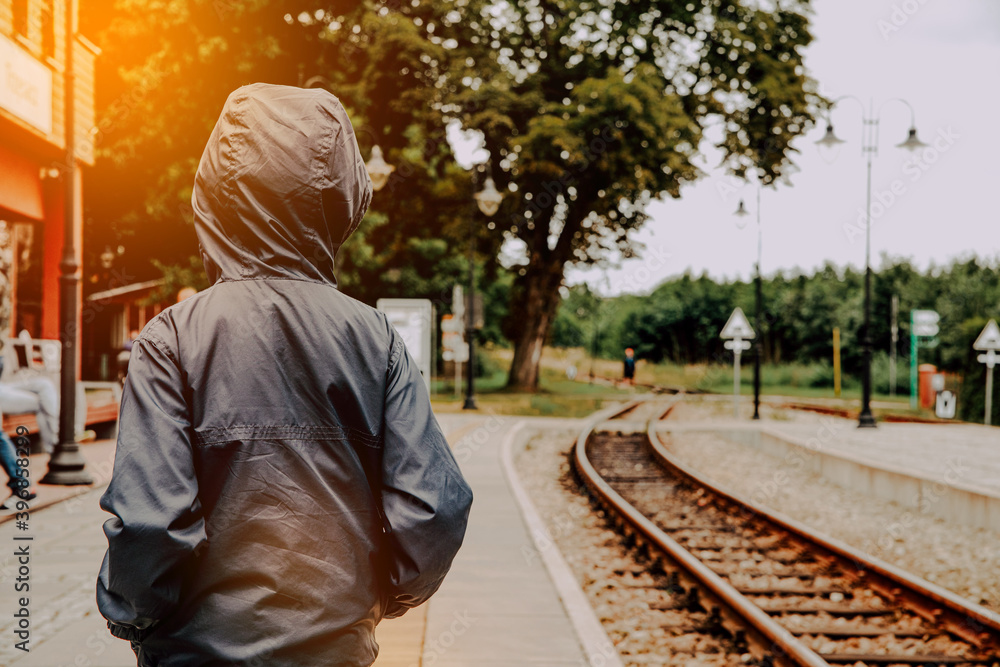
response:
<path id="1" fill-rule="evenodd" d="M 604 631 L 604 626 L 597 619 L 586 594 L 577 583 L 566 559 L 563 558 L 559 547 L 556 546 L 555 539 L 538 514 L 538 510 L 535 509 L 535 504 L 531 501 L 531 497 L 528 496 L 527 490 L 517 475 L 517 470 L 514 467 L 514 446 L 517 443 L 523 447 L 527 443 L 527 439 L 522 439 L 518 443 L 518 436 L 526 425 L 528 422 L 519 421 L 507 433 L 501 445 L 501 457 L 507 485 L 517 500 L 521 516 L 524 518 L 531 539 L 535 543 L 535 549 L 541 554 L 545 569 L 549 571 L 549 577 L 556 587 L 556 592 L 559 593 L 559 598 L 566 609 L 570 623 L 573 624 L 577 640 L 583 647 L 589 664 L 591 667 L 622 667 L 622 661 L 618 657 L 615 645 L 611 643 L 611 639 Z"/>

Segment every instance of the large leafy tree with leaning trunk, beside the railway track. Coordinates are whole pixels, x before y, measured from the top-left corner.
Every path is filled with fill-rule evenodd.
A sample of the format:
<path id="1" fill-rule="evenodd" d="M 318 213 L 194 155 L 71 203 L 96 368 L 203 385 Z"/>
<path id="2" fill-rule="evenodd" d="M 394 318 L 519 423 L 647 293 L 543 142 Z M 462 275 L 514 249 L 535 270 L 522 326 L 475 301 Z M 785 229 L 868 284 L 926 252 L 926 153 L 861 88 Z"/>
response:
<path id="1" fill-rule="evenodd" d="M 509 192 L 499 233 L 527 249 L 506 329 L 510 387 L 537 386 L 567 265 L 628 256 L 648 202 L 700 176 L 710 125 L 733 173 L 752 167 L 769 184 L 787 167 L 820 101 L 802 64 L 807 10 L 739 0 L 450 8 L 436 31 L 452 47 L 449 108 L 482 133 Z"/>

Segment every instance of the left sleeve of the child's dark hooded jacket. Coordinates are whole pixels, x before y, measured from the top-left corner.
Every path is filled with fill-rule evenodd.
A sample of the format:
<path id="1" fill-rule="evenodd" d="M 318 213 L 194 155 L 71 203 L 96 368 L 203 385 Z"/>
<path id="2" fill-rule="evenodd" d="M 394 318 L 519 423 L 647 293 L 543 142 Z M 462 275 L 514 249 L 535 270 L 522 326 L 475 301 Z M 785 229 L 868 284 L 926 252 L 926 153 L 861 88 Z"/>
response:
<path id="1" fill-rule="evenodd" d="M 186 565 L 206 542 L 180 370 L 160 341 L 132 348 L 111 484 L 101 507 L 108 551 L 97 605 L 112 634 L 140 640 L 178 603 Z"/>

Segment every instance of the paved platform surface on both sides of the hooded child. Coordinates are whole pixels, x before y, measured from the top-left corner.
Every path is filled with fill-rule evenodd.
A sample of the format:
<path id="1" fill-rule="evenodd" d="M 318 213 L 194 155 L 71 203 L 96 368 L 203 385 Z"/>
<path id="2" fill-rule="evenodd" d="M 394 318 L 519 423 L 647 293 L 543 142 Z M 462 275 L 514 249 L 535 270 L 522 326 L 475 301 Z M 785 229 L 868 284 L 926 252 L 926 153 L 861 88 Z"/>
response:
<path id="1" fill-rule="evenodd" d="M 503 476 L 500 445 L 521 418 L 442 415 L 455 456 L 475 494 L 466 543 L 431 601 L 376 631 L 380 667 L 424 665 L 585 665 L 583 650 L 547 571 L 526 558 L 533 544 Z M 546 424 L 572 423 L 543 419 Z M 82 449 L 105 483 L 114 443 Z M 45 457 L 32 459 L 44 471 Z M 40 476 L 40 474 L 35 475 Z M 108 633 L 94 601 L 107 542 L 98 501 L 103 485 L 39 486 L 27 530 L 0 523 L 0 665 L 9 667 L 126 667 L 128 645 Z M 0 519 L 2 520 L 2 519 Z M 12 614 L 17 564 L 15 537 L 30 536 L 31 650 L 14 648 Z"/>

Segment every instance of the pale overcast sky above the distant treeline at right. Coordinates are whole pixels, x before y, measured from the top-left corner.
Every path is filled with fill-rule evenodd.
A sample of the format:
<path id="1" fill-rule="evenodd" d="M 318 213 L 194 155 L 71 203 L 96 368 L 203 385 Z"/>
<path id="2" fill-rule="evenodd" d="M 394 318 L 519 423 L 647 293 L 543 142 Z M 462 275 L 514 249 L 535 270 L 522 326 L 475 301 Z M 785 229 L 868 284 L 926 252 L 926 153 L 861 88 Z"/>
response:
<path id="1" fill-rule="evenodd" d="M 909 111 L 885 105 L 872 191 L 874 202 L 881 197 L 887 205 L 874 211 L 880 215 L 873 216 L 873 265 L 882 253 L 922 268 L 972 254 L 1000 256 L 1000 2 L 816 0 L 813 6 L 815 41 L 806 65 L 821 92 L 831 99 L 856 95 L 866 106 L 869 99 L 877 106 L 905 98 L 920 138 L 934 146 L 918 156 L 895 148 L 906 138 Z M 814 142 L 823 128 L 814 128 L 795 144 L 801 172 L 793 186 L 763 191 L 765 275 L 808 271 L 827 260 L 864 265 L 860 107 L 843 102 L 833 121 L 847 142 L 837 159 L 821 158 Z M 616 294 L 648 292 L 686 269 L 747 278 L 756 259 L 756 226 L 752 217 L 742 230 L 734 224 L 741 198 L 753 211 L 755 186 L 711 173 L 680 200 L 650 206 L 652 219 L 636 235 L 647 246 L 642 258 L 609 269 L 607 281 L 602 270 L 570 271 L 567 283 L 585 280 Z"/>

